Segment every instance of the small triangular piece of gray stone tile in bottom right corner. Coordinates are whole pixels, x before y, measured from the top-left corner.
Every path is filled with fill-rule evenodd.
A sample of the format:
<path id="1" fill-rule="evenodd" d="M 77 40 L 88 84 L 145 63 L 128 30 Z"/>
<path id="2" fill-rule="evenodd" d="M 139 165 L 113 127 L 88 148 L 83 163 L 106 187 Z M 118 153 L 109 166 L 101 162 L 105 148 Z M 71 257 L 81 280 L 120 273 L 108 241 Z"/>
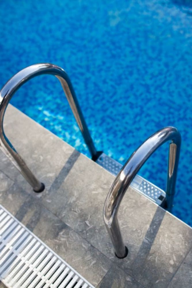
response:
<path id="1" fill-rule="evenodd" d="M 176 272 L 168 288 L 192 287 L 192 249 Z"/>

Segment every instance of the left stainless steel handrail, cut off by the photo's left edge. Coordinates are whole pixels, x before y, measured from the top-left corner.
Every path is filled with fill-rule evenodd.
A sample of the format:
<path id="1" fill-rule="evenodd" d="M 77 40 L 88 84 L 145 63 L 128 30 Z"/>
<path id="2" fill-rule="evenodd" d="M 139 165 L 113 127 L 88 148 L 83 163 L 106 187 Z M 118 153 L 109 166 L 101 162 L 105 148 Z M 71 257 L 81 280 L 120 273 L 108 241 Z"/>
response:
<path id="1" fill-rule="evenodd" d="M 0 104 L 0 149 L 11 160 L 11 162 L 16 166 L 16 168 L 18 168 L 20 173 L 33 187 L 33 190 L 35 192 L 43 191 L 44 184 L 39 182 L 39 180 L 33 175 L 24 160 L 20 157 L 20 155 L 14 149 L 13 145 L 5 136 L 5 133 L 3 131 L 3 118 L 7 105 L 9 104 L 9 101 L 11 100 L 14 93 L 28 80 L 42 74 L 55 75 L 59 79 L 66 98 L 69 102 L 69 105 L 71 106 L 71 109 L 73 111 L 73 115 L 75 116 L 75 119 L 77 121 L 79 129 L 81 130 L 85 143 L 87 144 L 88 149 L 92 155 L 92 158 L 96 159 L 99 153 L 96 151 L 88 127 L 83 118 L 83 114 L 81 112 L 75 92 L 73 90 L 73 86 L 66 72 L 62 68 L 49 63 L 35 64 L 19 71 L 11 79 L 9 79 L 9 81 L 3 86 L 0 91 L 0 99 L 1 97 L 3 98 Z"/>

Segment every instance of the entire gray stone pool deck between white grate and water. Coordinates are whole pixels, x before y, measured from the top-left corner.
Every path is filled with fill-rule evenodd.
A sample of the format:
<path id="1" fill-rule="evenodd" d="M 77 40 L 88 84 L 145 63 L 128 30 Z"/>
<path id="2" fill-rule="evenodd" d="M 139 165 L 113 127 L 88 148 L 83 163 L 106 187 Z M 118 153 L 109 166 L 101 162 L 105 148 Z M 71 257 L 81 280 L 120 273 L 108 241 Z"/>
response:
<path id="1" fill-rule="evenodd" d="M 129 253 L 118 259 L 102 218 L 115 177 L 9 106 L 5 134 L 46 187 L 33 192 L 0 151 L 0 203 L 9 212 L 95 287 L 192 287 L 189 226 L 129 188 L 119 209 Z"/>

